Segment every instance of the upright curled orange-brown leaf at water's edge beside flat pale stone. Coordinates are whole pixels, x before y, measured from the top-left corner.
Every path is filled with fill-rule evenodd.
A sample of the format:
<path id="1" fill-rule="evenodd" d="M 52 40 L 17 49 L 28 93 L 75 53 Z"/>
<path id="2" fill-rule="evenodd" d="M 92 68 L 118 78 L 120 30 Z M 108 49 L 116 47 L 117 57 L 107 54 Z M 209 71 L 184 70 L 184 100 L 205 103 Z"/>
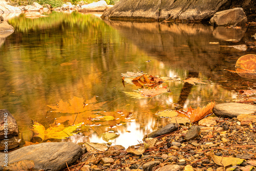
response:
<path id="1" fill-rule="evenodd" d="M 206 106 L 203 106 L 201 109 L 198 107 L 197 109 L 191 108 L 191 106 L 187 109 L 187 112 L 177 111 L 180 115 L 186 115 L 191 122 L 196 122 L 203 119 L 205 116 L 212 113 L 212 109 L 214 109 L 215 102 L 210 102 Z"/>

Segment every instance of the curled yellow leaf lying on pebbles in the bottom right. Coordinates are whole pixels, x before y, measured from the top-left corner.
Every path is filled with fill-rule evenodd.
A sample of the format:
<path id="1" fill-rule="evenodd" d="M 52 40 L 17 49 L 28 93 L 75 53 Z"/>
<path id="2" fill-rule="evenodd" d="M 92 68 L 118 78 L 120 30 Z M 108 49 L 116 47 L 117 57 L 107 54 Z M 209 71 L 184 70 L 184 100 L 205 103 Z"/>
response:
<path id="1" fill-rule="evenodd" d="M 241 164 L 244 159 L 240 159 L 240 158 L 236 158 L 236 157 L 222 157 L 222 156 L 216 156 L 214 154 L 212 154 L 211 152 L 209 153 L 209 157 L 212 158 L 212 160 L 214 160 L 214 162 L 220 166 L 235 166 L 235 165 L 239 165 Z"/>

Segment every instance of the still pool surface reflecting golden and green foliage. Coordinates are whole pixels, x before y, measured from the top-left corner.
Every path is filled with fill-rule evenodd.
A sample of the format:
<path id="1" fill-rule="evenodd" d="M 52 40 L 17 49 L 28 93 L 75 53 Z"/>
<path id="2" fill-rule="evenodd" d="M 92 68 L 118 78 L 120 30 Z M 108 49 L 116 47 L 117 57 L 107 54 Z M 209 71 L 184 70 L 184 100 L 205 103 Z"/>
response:
<path id="1" fill-rule="evenodd" d="M 15 31 L 0 39 L 0 108 L 8 109 L 17 120 L 23 142 L 35 140 L 31 120 L 47 128 L 59 123 L 61 116 L 76 116 L 51 112 L 48 106 L 74 96 L 85 103 L 94 97 L 97 100 L 91 105 L 95 112 L 78 117 L 75 123 L 89 123 L 97 111 L 108 112 L 115 119 L 100 124 L 91 121 L 82 129 L 86 137 L 73 141 L 104 142 L 102 133 L 112 131 L 119 135 L 113 144 L 127 147 L 167 124 L 166 118 L 156 115 L 158 111 L 230 102 L 236 99 L 235 91 L 247 89 L 248 81 L 254 85 L 253 80 L 224 70 L 234 70 L 240 56 L 255 54 L 228 47 L 255 43 L 250 36 L 254 29 L 104 21 L 77 12 L 47 15 L 10 19 Z M 240 42 L 232 44 L 226 39 Z M 138 87 L 127 83 L 124 87 L 120 75 L 138 71 L 178 81 L 163 83 L 172 92 L 152 99 L 131 98 L 124 92 Z M 187 77 L 201 78 L 206 84 L 179 81 Z M 69 125 L 68 121 L 64 124 Z"/>

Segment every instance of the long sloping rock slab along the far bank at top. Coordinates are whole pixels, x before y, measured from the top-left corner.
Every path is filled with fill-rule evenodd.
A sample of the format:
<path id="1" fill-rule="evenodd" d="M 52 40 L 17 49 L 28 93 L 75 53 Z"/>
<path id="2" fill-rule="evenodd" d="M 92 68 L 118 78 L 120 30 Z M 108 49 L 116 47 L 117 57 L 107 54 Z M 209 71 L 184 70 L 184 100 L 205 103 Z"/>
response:
<path id="1" fill-rule="evenodd" d="M 243 3 L 244 2 L 244 3 Z M 239 5 L 236 5 L 238 4 Z M 251 6 L 255 10 L 252 0 L 230 1 L 230 0 L 121 0 L 114 7 L 106 10 L 102 18 L 110 19 L 150 19 L 163 20 L 187 20 L 201 22 L 209 20 L 218 11 L 233 7 Z"/>

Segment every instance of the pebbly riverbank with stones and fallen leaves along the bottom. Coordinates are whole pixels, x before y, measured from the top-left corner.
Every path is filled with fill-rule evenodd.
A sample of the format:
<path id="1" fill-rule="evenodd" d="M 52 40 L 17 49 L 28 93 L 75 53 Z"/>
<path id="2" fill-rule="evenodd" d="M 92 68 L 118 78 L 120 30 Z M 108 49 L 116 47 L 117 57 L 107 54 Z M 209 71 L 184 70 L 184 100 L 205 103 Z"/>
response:
<path id="1" fill-rule="evenodd" d="M 256 167 L 255 105 L 217 104 L 190 125 L 169 123 L 137 145 L 46 142 L 0 154 L 1 170 L 253 170 Z M 234 111 L 236 116 L 234 116 Z M 245 114 L 246 113 L 246 114 Z M 68 168 L 67 168 L 68 167 Z"/>

